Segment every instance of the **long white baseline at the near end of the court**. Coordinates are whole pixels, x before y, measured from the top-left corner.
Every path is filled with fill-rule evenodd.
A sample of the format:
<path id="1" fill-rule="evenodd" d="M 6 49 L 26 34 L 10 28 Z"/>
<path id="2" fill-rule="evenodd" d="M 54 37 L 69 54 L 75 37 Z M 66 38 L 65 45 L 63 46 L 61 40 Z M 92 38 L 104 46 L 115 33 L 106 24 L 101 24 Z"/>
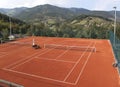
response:
<path id="1" fill-rule="evenodd" d="M 33 77 L 33 78 L 39 78 L 39 79 L 44 79 L 44 80 L 49 80 L 49 81 L 54 81 L 54 82 L 59 82 L 59 83 L 64 83 L 64 84 L 75 85 L 75 83 L 71 83 L 71 82 L 65 82 L 65 81 L 61 81 L 61 80 L 56 80 L 56 79 L 52 79 L 52 78 L 48 78 L 48 77 L 28 74 L 28 73 L 19 72 L 19 71 L 15 71 L 15 70 L 11 70 L 11 69 L 6 69 L 6 68 L 2 68 L 2 69 L 5 70 L 5 71 L 10 71 L 10 72 L 14 72 L 14 73 L 17 73 L 17 74 L 30 76 L 30 77 Z"/>

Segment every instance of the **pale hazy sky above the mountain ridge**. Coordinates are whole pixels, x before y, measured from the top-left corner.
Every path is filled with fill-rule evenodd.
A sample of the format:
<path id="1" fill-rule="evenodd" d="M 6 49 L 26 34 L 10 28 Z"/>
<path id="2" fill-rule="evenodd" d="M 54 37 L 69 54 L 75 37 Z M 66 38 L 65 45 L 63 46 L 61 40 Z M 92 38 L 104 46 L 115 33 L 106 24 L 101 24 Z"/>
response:
<path id="1" fill-rule="evenodd" d="M 120 0 L 1 0 L 0 8 L 34 7 L 51 4 L 60 7 L 77 7 L 89 10 L 120 10 Z"/>

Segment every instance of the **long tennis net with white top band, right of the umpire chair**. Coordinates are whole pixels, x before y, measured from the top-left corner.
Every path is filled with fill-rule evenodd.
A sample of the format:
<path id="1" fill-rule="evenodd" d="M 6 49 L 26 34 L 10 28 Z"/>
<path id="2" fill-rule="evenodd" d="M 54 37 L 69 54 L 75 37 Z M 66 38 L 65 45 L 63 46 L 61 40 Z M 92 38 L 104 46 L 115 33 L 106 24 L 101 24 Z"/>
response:
<path id="1" fill-rule="evenodd" d="M 59 44 L 44 44 L 44 48 L 96 52 L 95 47 L 88 47 L 88 46 L 69 46 L 69 45 L 59 45 Z"/>

